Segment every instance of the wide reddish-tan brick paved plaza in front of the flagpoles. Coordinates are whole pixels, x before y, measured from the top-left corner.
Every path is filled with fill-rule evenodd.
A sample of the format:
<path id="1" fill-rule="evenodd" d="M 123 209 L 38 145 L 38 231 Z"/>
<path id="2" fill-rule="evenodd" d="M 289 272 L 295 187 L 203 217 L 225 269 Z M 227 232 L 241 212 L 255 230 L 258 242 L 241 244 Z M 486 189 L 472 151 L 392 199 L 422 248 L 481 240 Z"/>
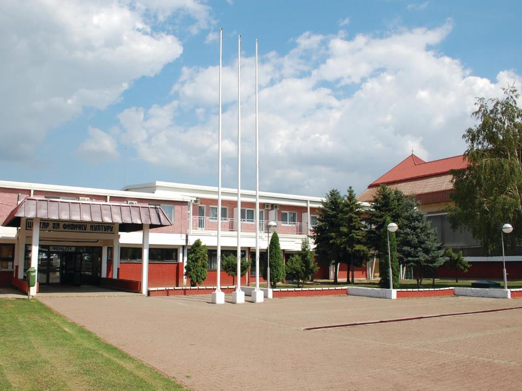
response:
<path id="1" fill-rule="evenodd" d="M 40 300 L 194 390 L 522 388 L 522 309 L 303 330 L 522 306 L 516 299 L 339 296 L 221 306 L 207 296 Z"/>

